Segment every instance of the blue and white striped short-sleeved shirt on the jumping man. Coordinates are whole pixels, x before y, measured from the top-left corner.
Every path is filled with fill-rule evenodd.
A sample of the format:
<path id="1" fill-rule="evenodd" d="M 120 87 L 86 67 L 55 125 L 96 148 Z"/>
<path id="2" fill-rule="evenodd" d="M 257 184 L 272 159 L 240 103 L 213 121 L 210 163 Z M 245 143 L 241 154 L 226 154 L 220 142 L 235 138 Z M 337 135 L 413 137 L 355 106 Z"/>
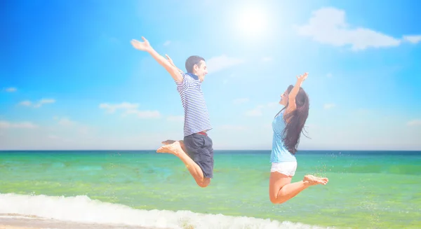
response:
<path id="1" fill-rule="evenodd" d="M 201 90 L 201 81 L 184 72 L 180 73 L 182 82 L 175 81 L 175 83 L 185 112 L 184 136 L 211 130 L 212 125 L 210 125 L 208 108 Z"/>

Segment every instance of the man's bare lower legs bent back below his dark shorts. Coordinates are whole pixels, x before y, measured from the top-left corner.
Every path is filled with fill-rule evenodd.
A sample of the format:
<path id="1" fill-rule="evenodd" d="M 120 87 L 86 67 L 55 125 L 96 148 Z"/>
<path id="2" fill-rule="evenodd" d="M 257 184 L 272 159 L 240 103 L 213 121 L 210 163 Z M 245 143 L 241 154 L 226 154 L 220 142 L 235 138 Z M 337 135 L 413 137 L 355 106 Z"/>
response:
<path id="1" fill-rule="evenodd" d="M 184 144 L 182 144 L 181 146 L 180 141 L 172 141 L 173 140 L 163 141 L 162 143 L 166 145 L 161 146 L 161 148 L 159 148 L 156 151 L 156 153 L 171 153 L 173 155 L 176 155 L 178 158 L 180 158 L 180 160 L 182 160 L 182 162 L 185 163 L 187 169 L 189 169 L 189 172 L 190 174 L 192 174 L 197 185 L 199 185 L 202 188 L 208 186 L 210 183 L 210 178 L 204 177 L 199 165 L 197 165 L 196 162 L 194 162 L 194 160 L 192 160 L 192 158 L 190 158 L 189 155 L 185 153 L 185 150 L 183 150 L 182 148 Z"/>

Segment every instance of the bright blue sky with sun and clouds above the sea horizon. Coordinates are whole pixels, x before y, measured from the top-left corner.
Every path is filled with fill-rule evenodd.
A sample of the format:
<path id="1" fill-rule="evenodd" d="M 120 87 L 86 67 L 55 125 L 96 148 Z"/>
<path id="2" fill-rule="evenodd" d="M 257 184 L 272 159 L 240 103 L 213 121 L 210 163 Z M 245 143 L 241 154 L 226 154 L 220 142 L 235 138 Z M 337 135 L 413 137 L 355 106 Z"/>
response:
<path id="1" fill-rule="evenodd" d="M 171 76 L 206 59 L 215 149 L 267 149 L 282 92 L 309 72 L 300 149 L 421 150 L 417 1 L 8 1 L 0 149 L 155 149 L 182 139 Z"/>

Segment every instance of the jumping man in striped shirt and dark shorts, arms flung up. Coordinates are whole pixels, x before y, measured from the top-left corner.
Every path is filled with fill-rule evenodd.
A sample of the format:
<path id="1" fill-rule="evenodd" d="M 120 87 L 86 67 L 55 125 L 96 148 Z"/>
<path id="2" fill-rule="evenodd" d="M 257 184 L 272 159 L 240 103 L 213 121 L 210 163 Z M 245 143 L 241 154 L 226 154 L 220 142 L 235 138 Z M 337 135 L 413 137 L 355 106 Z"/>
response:
<path id="1" fill-rule="evenodd" d="M 165 59 L 156 53 L 149 41 L 132 40 L 134 48 L 146 51 L 173 77 L 184 109 L 184 141 L 167 140 L 157 153 L 172 153 L 185 163 L 196 183 L 205 188 L 213 178 L 213 142 L 208 136 L 210 125 L 208 109 L 201 90 L 208 69 L 203 57 L 193 55 L 187 58 L 187 73 L 178 69 L 168 55 Z"/>

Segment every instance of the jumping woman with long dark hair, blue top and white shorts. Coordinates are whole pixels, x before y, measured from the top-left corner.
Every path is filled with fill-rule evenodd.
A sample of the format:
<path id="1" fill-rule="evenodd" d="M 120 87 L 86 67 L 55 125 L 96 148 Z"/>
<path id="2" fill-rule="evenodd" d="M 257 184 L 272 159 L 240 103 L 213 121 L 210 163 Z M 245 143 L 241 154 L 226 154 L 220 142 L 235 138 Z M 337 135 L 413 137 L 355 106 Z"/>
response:
<path id="1" fill-rule="evenodd" d="M 297 169 L 297 147 L 300 135 L 309 115 L 309 97 L 301 88 L 307 73 L 297 76 L 297 83 L 289 85 L 281 95 L 279 104 L 283 109 L 272 121 L 274 131 L 270 161 L 269 198 L 274 204 L 281 204 L 298 195 L 302 190 L 316 184 L 326 185 L 327 178 L 306 175 L 302 181 L 291 183 Z"/>

